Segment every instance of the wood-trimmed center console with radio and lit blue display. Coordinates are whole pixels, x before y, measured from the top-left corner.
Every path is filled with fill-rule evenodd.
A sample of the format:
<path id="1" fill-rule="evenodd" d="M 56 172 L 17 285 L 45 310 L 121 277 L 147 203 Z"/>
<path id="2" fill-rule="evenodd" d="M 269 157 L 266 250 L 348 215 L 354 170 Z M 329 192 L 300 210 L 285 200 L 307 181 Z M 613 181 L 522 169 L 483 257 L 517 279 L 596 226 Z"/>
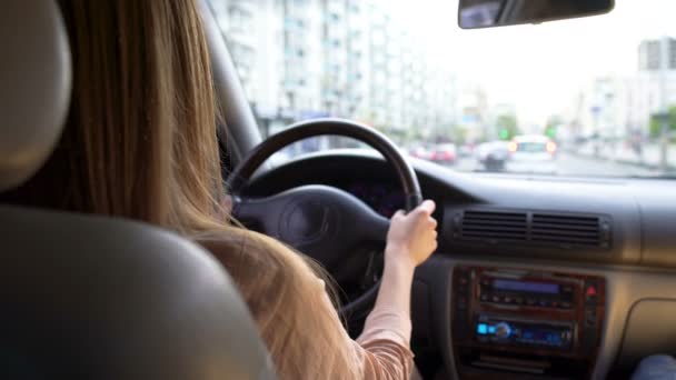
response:
<path id="1" fill-rule="evenodd" d="M 584 379 L 599 349 L 605 279 L 456 267 L 453 346 L 461 379 Z"/>

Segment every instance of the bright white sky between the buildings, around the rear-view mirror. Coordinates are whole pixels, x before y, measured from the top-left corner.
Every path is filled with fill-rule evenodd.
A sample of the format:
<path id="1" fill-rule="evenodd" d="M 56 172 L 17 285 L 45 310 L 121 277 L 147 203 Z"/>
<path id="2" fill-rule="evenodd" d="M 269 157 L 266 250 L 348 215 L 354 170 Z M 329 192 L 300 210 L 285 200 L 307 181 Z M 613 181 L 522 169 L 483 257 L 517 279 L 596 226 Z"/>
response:
<path id="1" fill-rule="evenodd" d="M 595 77 L 635 73 L 642 40 L 676 37 L 676 0 L 616 0 L 604 16 L 480 30 L 459 29 L 457 0 L 382 3 L 459 83 L 483 86 L 490 104 L 511 103 L 534 123 L 563 111 Z"/>

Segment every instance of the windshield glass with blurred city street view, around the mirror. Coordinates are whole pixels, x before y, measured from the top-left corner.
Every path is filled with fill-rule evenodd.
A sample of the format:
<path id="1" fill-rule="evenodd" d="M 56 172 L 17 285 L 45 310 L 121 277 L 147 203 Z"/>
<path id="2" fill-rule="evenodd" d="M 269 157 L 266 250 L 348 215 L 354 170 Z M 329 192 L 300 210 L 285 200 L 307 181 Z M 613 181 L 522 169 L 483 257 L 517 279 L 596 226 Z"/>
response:
<path id="1" fill-rule="evenodd" d="M 264 137 L 339 117 L 450 170 L 676 174 L 674 0 L 479 30 L 457 27 L 454 0 L 209 3 Z M 327 148 L 360 147 L 285 154 Z"/>

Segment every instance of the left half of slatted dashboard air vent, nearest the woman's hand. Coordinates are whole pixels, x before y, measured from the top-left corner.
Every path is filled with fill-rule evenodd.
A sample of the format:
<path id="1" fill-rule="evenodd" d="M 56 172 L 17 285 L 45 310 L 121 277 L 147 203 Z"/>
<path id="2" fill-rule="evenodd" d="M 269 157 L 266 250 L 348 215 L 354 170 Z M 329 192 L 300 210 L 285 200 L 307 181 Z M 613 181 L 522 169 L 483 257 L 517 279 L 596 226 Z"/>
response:
<path id="1" fill-rule="evenodd" d="M 465 211 L 459 233 L 463 239 L 525 241 L 527 221 L 525 212 Z"/>

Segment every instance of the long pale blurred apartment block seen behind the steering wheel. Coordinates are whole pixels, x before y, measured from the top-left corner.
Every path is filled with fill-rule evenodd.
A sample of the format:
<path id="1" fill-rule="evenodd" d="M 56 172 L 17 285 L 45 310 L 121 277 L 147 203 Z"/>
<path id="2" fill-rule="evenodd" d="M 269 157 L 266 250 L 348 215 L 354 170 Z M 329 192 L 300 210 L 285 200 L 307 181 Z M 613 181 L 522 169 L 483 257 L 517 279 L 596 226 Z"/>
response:
<path id="1" fill-rule="evenodd" d="M 210 0 L 245 91 L 267 131 L 334 116 L 395 134 L 455 123 L 454 76 L 386 3 Z"/>

